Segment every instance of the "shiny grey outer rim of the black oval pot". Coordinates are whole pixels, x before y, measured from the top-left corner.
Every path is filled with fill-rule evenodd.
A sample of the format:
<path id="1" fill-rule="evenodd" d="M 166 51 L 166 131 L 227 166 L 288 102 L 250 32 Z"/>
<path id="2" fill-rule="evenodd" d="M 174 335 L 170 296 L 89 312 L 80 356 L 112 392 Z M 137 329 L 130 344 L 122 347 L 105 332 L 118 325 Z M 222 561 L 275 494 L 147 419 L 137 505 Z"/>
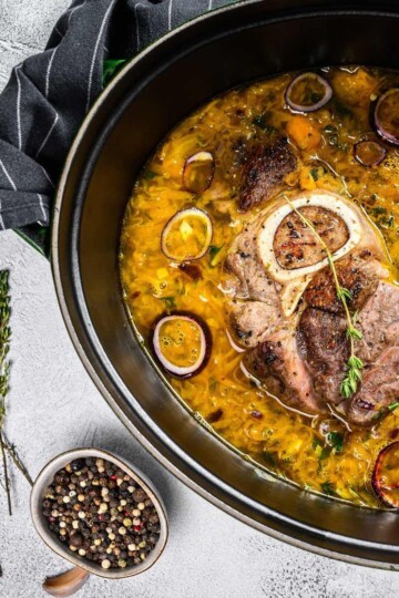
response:
<path id="1" fill-rule="evenodd" d="M 88 328 L 90 328 L 90 318 L 88 312 L 85 311 L 85 306 L 79 305 L 79 299 L 83 298 L 83 295 L 79 298 L 74 298 L 74 305 L 76 308 L 82 310 L 82 319 L 84 322 L 83 331 L 78 332 L 76 328 L 74 327 L 74 323 L 72 321 L 72 317 L 70 313 L 69 302 L 64 295 L 64 286 L 63 286 L 63 274 L 62 274 L 62 267 L 60 264 L 60 245 L 59 245 L 59 230 L 60 230 L 60 214 L 61 214 L 61 207 L 63 202 L 64 192 L 68 185 L 69 175 L 71 171 L 71 166 L 73 164 L 75 154 L 82 143 L 82 141 L 85 137 L 85 134 L 88 132 L 88 128 L 90 124 L 95 121 L 96 114 L 100 110 L 100 107 L 103 105 L 105 100 L 112 95 L 114 89 L 119 85 L 120 81 L 124 79 L 126 73 L 129 73 L 131 70 L 133 70 L 137 63 L 140 63 L 149 53 L 152 53 L 154 50 L 156 50 L 160 45 L 162 45 L 167 40 L 178 35 L 180 33 L 186 31 L 188 28 L 201 23 L 206 20 L 211 20 L 215 16 L 224 14 L 227 12 L 232 12 L 234 10 L 242 10 L 243 6 L 246 4 L 256 4 L 258 3 L 258 0 L 246 0 L 244 2 L 241 2 L 238 4 L 227 6 L 222 9 L 216 9 L 212 11 L 211 13 L 197 17 L 196 19 L 193 19 L 188 23 L 185 23 L 181 25 L 180 28 L 171 31 L 165 37 L 163 37 L 161 40 L 154 42 L 152 45 L 147 47 L 145 50 L 143 50 L 139 55 L 133 58 L 131 61 L 127 62 L 127 64 L 121 70 L 121 72 L 113 79 L 113 81 L 108 85 L 108 87 L 103 91 L 103 93 L 100 95 L 100 97 L 96 100 L 90 112 L 88 113 L 86 117 L 84 118 L 75 140 L 71 146 L 71 150 L 69 152 L 68 158 L 65 161 L 65 165 L 60 178 L 59 187 L 57 190 L 55 202 L 54 202 L 54 214 L 53 214 L 53 227 L 52 227 L 52 239 L 51 239 L 51 265 L 52 265 L 52 272 L 54 278 L 54 285 L 55 285 L 55 291 L 58 301 L 61 308 L 61 312 L 63 316 L 63 320 L 65 322 L 69 336 L 74 344 L 74 348 L 85 367 L 88 373 L 92 378 L 94 384 L 101 392 L 101 394 L 106 400 L 108 404 L 111 406 L 113 412 L 116 414 L 116 416 L 120 419 L 120 421 L 127 427 L 127 430 L 135 436 L 135 439 L 160 462 L 162 465 L 164 465 L 171 473 L 173 473 L 178 480 L 181 480 L 186 486 L 194 489 L 197 494 L 206 498 L 209 503 L 214 504 L 215 506 L 222 508 L 224 512 L 228 513 L 229 515 L 234 516 L 235 518 L 242 520 L 243 523 L 246 523 L 247 525 L 250 525 L 252 527 L 258 529 L 259 532 L 266 533 L 270 537 L 285 542 L 287 544 L 290 544 L 295 547 L 306 549 L 308 551 L 315 553 L 320 556 L 327 556 L 335 558 L 337 560 L 356 564 L 356 565 L 362 565 L 362 566 L 369 566 L 375 568 L 383 568 L 389 570 L 399 570 L 399 563 L 389 563 L 390 555 L 395 554 L 397 555 L 399 553 L 399 547 L 396 548 L 393 545 L 388 544 L 379 544 L 379 543 L 371 543 L 366 540 L 358 540 L 356 538 L 349 537 L 349 536 L 342 536 L 338 534 L 332 534 L 326 530 L 323 530 L 320 528 L 311 527 L 309 525 L 305 525 L 300 523 L 297 519 L 286 517 L 280 515 L 278 512 L 272 511 L 263 505 L 263 514 L 266 514 L 266 516 L 269 519 L 277 520 L 280 525 L 287 527 L 287 534 L 282 533 L 277 529 L 274 529 L 273 527 L 269 527 L 266 524 L 263 524 L 250 516 L 241 513 L 236 507 L 228 504 L 228 498 L 231 501 L 235 502 L 235 504 L 243 504 L 246 503 L 252 508 L 259 511 L 259 504 L 255 501 L 252 501 L 248 498 L 248 496 L 243 495 L 242 493 L 237 492 L 236 489 L 228 486 L 226 483 L 222 482 L 221 480 L 213 476 L 206 468 L 204 468 L 201 464 L 195 462 L 187 453 L 182 451 L 170 437 L 168 439 L 168 445 L 171 447 L 172 453 L 174 454 L 174 461 L 182 464 L 185 464 L 192 472 L 196 474 L 196 477 L 200 478 L 201 483 L 195 482 L 192 480 L 191 476 L 188 476 L 186 473 L 184 473 L 180 466 L 177 466 L 174 462 L 172 462 L 170 458 L 165 457 L 165 455 L 156 448 L 153 443 L 149 440 L 146 435 L 144 435 L 137 427 L 132 423 L 132 421 L 129 419 L 127 414 L 121 409 L 121 406 L 117 404 L 115 398 L 113 394 L 105 388 L 102 378 L 100 373 L 98 372 L 95 365 L 93 365 L 92 360 L 88 357 L 86 352 L 84 351 L 82 347 L 81 339 L 84 338 L 85 340 L 91 339 L 91 334 L 95 337 L 95 332 L 92 331 L 90 334 L 88 331 Z M 387 17 L 397 17 L 398 13 L 392 12 L 385 12 L 385 11 L 374 11 L 374 10 L 360 10 L 354 11 L 354 10 L 323 10 L 324 16 L 352 16 L 354 12 L 357 12 L 358 14 L 367 16 L 367 17 L 374 17 L 374 16 L 387 16 Z M 319 17 L 320 11 L 308 11 L 304 12 L 303 14 L 293 14 L 289 13 L 287 16 L 282 14 L 278 19 L 268 18 L 267 21 L 282 21 L 285 19 L 293 20 L 295 18 L 300 19 L 304 17 Z M 78 293 L 79 295 L 79 293 Z M 84 302 L 84 301 L 83 301 Z M 89 324 L 89 326 L 88 326 Z M 96 346 L 100 346 L 99 339 L 96 339 Z M 101 357 L 102 348 L 99 351 L 99 354 Z M 113 367 L 111 365 L 111 369 L 113 370 L 113 380 L 109 374 L 109 368 L 105 368 L 103 364 L 105 375 L 110 380 L 113 389 L 116 392 L 116 384 L 115 380 L 119 381 L 119 386 L 124 388 L 124 384 Z M 143 412 L 144 413 L 144 412 Z M 144 413 L 145 414 L 145 413 Z M 144 422 L 145 423 L 145 422 Z M 154 434 L 154 432 L 152 432 Z M 157 429 L 156 432 L 158 440 L 164 443 L 164 439 L 162 437 L 162 430 Z M 151 436 L 151 433 L 149 431 L 149 436 Z M 203 483 L 203 484 L 202 484 Z M 212 486 L 217 486 L 223 496 L 226 498 L 226 502 L 223 501 L 219 497 L 216 497 L 214 494 L 211 494 L 205 488 L 205 483 Z M 358 508 L 358 507 L 356 507 Z M 306 534 L 309 537 L 309 540 L 301 540 L 297 537 L 293 537 L 289 535 L 289 529 L 296 530 L 300 534 Z M 317 539 L 319 542 L 326 542 L 329 545 L 335 545 L 337 550 L 325 548 L 323 546 L 318 546 L 317 544 L 313 544 L 313 539 L 315 539 L 315 543 Z M 369 551 L 370 558 L 364 558 L 358 557 L 354 555 L 347 554 L 350 548 L 359 547 L 364 550 Z M 341 551 L 342 550 L 342 551 Z M 378 560 L 376 558 L 372 558 L 371 555 L 380 555 L 381 560 Z M 388 563 L 382 560 L 383 558 L 388 559 Z"/>

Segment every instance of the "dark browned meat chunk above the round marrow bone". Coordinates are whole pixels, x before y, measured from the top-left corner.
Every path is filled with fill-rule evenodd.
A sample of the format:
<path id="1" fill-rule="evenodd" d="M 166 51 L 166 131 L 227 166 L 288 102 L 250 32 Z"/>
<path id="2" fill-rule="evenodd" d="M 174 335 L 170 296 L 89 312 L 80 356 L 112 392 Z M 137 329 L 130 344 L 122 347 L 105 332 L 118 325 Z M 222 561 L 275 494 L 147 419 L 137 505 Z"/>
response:
<path id="1" fill-rule="evenodd" d="M 243 176 L 239 208 L 243 212 L 276 195 L 285 177 L 297 167 L 297 158 L 286 140 L 256 145 L 250 152 Z"/>

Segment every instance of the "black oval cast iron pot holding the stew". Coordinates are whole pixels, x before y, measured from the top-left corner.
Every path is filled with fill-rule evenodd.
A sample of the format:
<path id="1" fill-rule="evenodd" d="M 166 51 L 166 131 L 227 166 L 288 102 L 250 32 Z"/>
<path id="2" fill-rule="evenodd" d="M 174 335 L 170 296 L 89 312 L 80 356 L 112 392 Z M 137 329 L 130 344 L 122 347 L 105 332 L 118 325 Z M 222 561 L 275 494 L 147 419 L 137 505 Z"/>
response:
<path id="1" fill-rule="evenodd" d="M 274 537 L 397 570 L 398 515 L 267 475 L 182 405 L 132 331 L 117 254 L 135 177 L 192 110 L 284 71 L 348 63 L 398 68 L 398 40 L 399 7 L 367 1 L 248 1 L 172 32 L 125 66 L 85 120 L 62 175 L 52 238 L 58 296 L 83 363 L 123 423 L 170 471 Z"/>

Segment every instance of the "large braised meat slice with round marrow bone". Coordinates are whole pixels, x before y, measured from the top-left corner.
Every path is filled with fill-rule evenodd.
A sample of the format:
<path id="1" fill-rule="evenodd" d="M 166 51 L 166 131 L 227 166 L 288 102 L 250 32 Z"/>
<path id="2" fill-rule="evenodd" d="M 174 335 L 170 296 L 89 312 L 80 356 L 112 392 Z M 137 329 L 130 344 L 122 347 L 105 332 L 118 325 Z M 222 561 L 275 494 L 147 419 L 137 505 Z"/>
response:
<path id="1" fill-rule="evenodd" d="M 371 424 L 381 409 L 399 398 L 399 289 L 386 280 L 382 245 L 360 209 L 347 204 L 326 218 L 328 210 L 319 205 L 326 204 L 326 194 L 308 196 L 295 202 L 331 254 L 339 256 L 338 281 L 350 292 L 348 307 L 362 334 L 356 341 L 356 354 L 365 364 L 357 393 L 345 399 L 340 390 L 350 343 L 332 270 L 323 246 L 311 245 L 315 234 L 284 199 L 249 221 L 227 256 L 226 290 L 233 296 L 229 330 L 245 350 L 245 369 L 272 395 L 307 413 L 334 408 L 352 424 Z M 287 259 L 291 239 L 290 249 L 299 247 L 298 239 L 304 247 L 303 262 L 296 254 L 295 267 Z M 269 247 L 277 266 L 268 261 Z M 298 296 L 294 310 L 287 309 L 289 293 Z"/>

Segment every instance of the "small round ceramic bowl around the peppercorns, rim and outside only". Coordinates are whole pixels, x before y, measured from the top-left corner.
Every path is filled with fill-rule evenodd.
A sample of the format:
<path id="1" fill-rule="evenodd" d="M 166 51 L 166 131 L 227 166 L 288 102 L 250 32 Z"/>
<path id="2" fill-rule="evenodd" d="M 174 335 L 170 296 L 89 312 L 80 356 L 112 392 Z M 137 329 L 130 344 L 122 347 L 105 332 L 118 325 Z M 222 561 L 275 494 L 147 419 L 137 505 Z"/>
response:
<path id="1" fill-rule="evenodd" d="M 103 569 L 100 565 L 96 563 L 92 563 L 90 560 L 84 559 L 84 557 L 79 556 L 75 553 L 72 553 L 66 548 L 59 538 L 50 532 L 48 528 L 47 520 L 42 513 L 42 502 L 44 498 L 44 492 L 45 488 L 52 483 L 54 475 L 59 470 L 62 470 L 68 463 L 71 463 L 71 461 L 74 461 L 75 458 L 88 458 L 88 457 L 96 457 L 96 458 L 104 458 L 106 461 L 110 461 L 111 463 L 114 463 L 117 467 L 126 472 L 127 475 L 130 475 L 133 480 L 140 484 L 140 486 L 147 493 L 149 497 L 153 502 L 157 515 L 160 517 L 160 525 L 161 525 L 161 534 L 160 539 L 155 545 L 155 548 L 149 553 L 149 556 L 143 563 L 140 565 L 134 565 L 133 567 L 126 567 L 124 569 Z M 32 493 L 31 493 L 31 499 L 30 499 L 30 507 L 31 507 L 31 515 L 33 519 L 34 527 L 37 528 L 38 534 L 41 536 L 42 540 L 58 555 L 62 556 L 76 567 L 80 567 L 81 569 L 85 569 L 86 571 L 99 575 L 101 577 L 108 577 L 111 579 L 122 579 L 125 577 L 132 577 L 134 575 L 139 575 L 146 569 L 150 569 L 156 560 L 162 555 L 166 542 L 167 542 L 167 535 L 168 535 L 168 527 L 167 527 L 167 518 L 166 518 L 166 512 L 165 506 L 160 498 L 160 496 L 156 494 L 155 488 L 153 487 L 152 483 L 147 478 L 146 475 L 144 475 L 142 472 L 140 472 L 136 467 L 133 466 L 131 463 L 126 463 L 125 460 L 122 460 L 122 457 L 119 457 L 114 454 L 108 453 L 106 451 L 102 451 L 100 448 L 75 448 L 73 451 L 68 451 L 66 453 L 62 453 L 61 455 L 58 455 L 54 457 L 50 463 L 48 463 L 40 474 L 38 475 L 37 481 L 33 484 Z"/>

